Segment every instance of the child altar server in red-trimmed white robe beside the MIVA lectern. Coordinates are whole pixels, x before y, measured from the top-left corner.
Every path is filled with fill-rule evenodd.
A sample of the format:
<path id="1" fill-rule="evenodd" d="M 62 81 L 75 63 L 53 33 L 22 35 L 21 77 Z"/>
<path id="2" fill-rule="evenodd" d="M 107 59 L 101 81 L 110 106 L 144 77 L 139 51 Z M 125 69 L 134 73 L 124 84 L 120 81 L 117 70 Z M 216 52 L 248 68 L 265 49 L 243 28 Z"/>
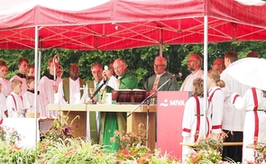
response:
<path id="1" fill-rule="evenodd" d="M 192 96 L 185 105 L 183 115 L 182 136 L 183 142 L 185 143 L 194 143 L 198 139 L 207 136 L 211 130 L 211 110 L 207 104 L 206 113 L 204 113 L 203 95 L 203 79 L 198 77 L 193 81 Z M 188 148 L 188 146 L 183 146 L 182 160 L 186 162 L 188 154 L 193 151 L 194 150 Z"/>

